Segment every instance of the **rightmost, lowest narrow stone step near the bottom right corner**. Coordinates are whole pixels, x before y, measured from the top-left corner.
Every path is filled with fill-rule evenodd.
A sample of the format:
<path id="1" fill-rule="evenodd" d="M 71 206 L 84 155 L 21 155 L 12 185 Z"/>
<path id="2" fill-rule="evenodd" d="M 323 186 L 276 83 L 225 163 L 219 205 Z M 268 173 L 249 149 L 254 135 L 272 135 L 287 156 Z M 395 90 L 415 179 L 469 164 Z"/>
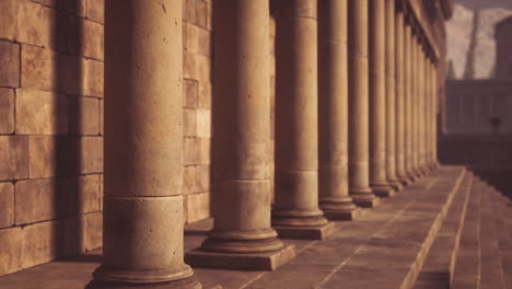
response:
<path id="1" fill-rule="evenodd" d="M 501 265 L 497 215 L 492 195 L 494 190 L 482 184 L 480 195 L 480 287 L 481 289 L 504 289 L 504 276 Z"/>

